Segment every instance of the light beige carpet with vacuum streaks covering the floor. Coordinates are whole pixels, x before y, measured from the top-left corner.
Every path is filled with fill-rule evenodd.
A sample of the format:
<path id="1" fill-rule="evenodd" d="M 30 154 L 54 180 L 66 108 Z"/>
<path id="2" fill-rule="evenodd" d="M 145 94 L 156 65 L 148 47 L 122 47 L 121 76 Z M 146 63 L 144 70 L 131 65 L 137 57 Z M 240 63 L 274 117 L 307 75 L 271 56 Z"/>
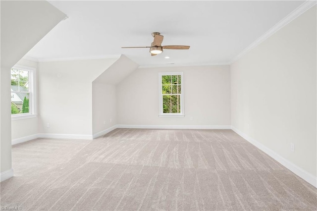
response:
<path id="1" fill-rule="evenodd" d="M 316 188 L 232 130 L 116 129 L 12 148 L 1 207 L 22 210 L 317 210 Z"/>

